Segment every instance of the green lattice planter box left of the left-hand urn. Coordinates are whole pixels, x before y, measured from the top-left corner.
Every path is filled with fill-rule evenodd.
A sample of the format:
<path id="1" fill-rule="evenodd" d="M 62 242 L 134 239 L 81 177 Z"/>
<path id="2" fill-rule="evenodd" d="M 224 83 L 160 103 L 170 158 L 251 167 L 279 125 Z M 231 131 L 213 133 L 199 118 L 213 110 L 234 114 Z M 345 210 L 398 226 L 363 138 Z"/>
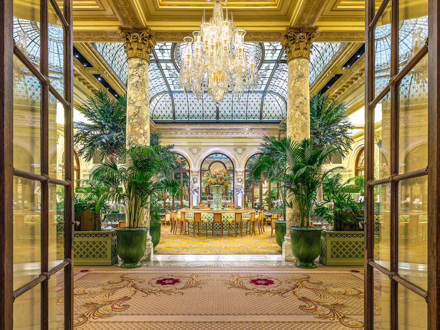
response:
<path id="1" fill-rule="evenodd" d="M 73 257 L 75 266 L 111 266 L 117 263 L 116 232 L 76 231 Z"/>

